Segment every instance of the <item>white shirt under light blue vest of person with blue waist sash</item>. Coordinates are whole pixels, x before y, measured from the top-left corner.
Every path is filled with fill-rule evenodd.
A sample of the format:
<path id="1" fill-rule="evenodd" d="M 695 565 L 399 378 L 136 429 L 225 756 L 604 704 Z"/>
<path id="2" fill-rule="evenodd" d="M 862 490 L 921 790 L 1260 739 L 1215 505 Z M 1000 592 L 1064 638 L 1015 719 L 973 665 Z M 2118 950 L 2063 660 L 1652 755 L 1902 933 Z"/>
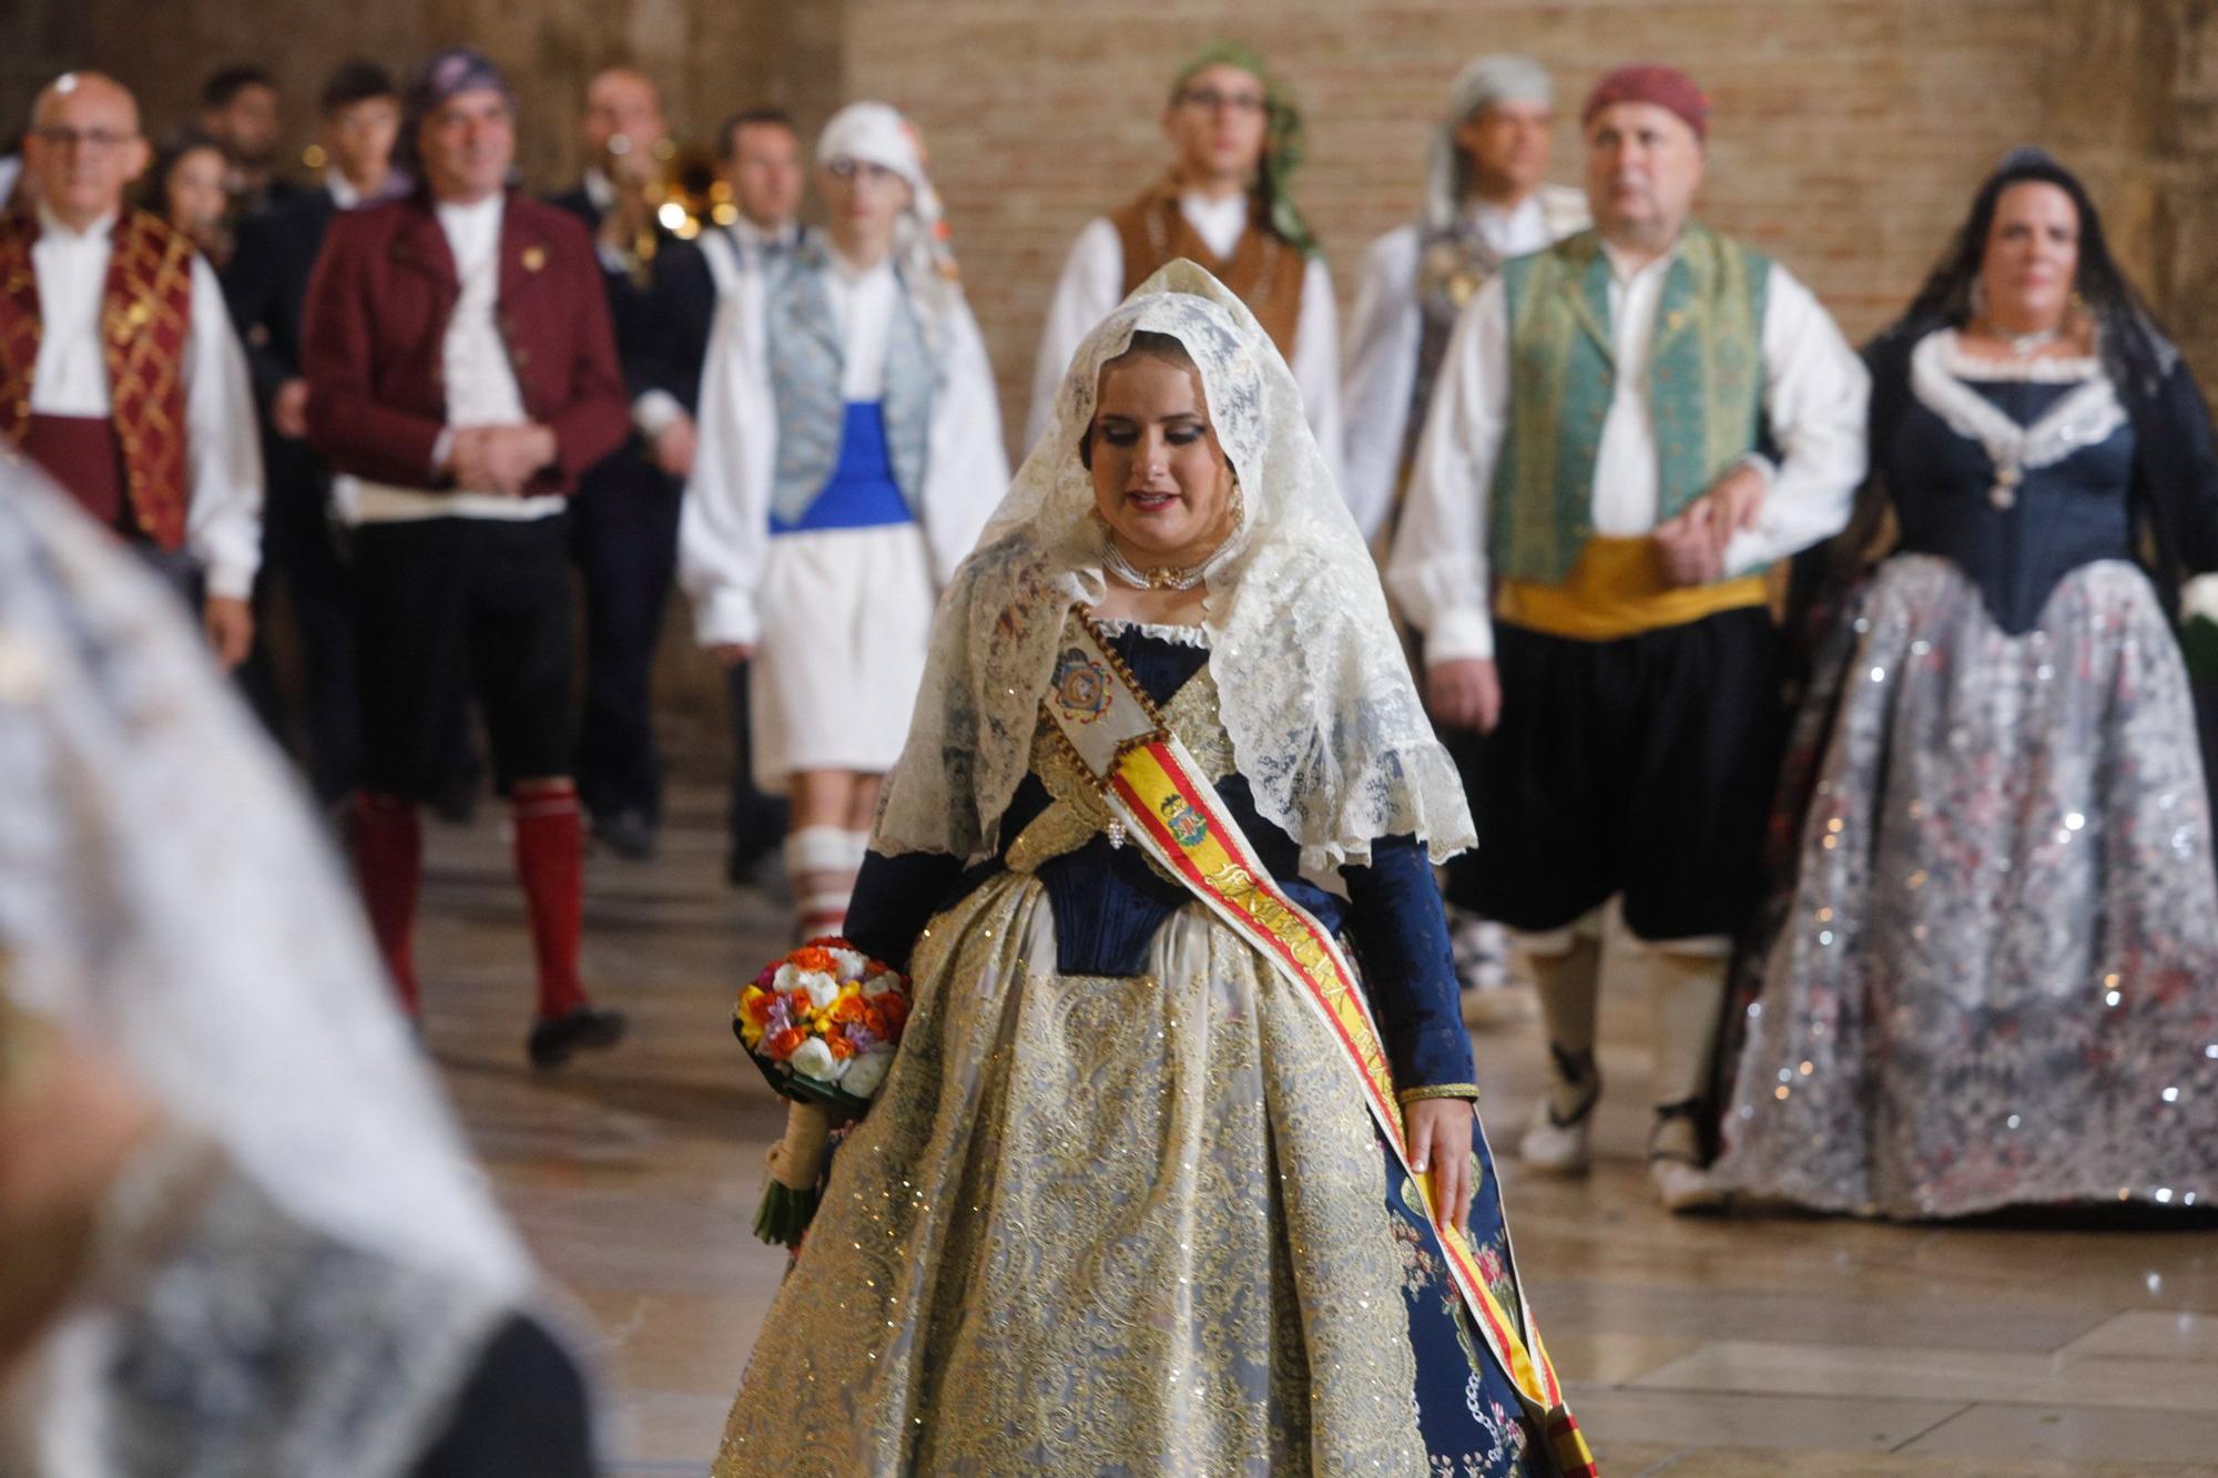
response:
<path id="1" fill-rule="evenodd" d="M 841 395 L 849 404 L 876 402 L 885 391 L 885 340 L 901 291 L 892 260 L 856 271 L 832 253 L 825 295 L 841 328 Z M 692 599 L 701 646 L 752 644 L 763 630 L 754 595 L 770 559 L 779 451 L 765 308 L 763 273 L 743 273 L 716 304 L 701 371 L 701 444 L 679 515 L 679 584 Z M 945 586 L 1007 490 L 1009 459 L 994 366 L 978 320 L 958 295 L 940 335 L 918 524 L 934 579 Z"/>

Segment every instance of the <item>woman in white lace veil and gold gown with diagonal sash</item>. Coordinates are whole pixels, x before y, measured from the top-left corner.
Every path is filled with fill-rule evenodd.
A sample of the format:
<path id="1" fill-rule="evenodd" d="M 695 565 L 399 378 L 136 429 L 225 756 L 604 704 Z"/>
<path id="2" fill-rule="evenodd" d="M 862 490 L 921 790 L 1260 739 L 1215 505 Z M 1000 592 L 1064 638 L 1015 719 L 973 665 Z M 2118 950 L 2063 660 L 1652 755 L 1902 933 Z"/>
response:
<path id="1" fill-rule="evenodd" d="M 940 604 L 849 923 L 914 1016 L 716 1471 L 1586 1471 L 1475 1143 L 1468 843 L 1291 371 L 1173 262 Z"/>

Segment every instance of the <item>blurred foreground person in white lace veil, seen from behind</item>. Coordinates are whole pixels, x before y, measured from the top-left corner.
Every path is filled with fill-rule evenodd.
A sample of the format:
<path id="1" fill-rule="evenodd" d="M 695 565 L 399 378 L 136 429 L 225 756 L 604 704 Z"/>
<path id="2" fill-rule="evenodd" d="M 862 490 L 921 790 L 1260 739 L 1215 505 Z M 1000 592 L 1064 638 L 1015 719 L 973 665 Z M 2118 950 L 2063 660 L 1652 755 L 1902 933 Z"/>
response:
<path id="1" fill-rule="evenodd" d="M 0 466 L 0 1471 L 588 1474 L 328 843 L 33 482 Z"/>

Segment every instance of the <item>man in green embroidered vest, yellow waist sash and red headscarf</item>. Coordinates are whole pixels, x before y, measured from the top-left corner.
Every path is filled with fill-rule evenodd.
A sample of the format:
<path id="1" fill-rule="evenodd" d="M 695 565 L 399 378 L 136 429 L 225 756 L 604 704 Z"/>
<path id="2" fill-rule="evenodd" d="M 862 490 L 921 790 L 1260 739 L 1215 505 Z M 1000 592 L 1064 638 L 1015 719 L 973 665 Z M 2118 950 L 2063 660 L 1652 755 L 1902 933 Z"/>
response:
<path id="1" fill-rule="evenodd" d="M 1617 897 L 1655 1001 L 1650 1167 L 1712 1201 L 1703 1103 L 1777 768 L 1766 568 L 1848 522 L 1863 364 L 1785 269 L 1692 220 L 1708 102 L 1668 67 L 1584 109 L 1595 231 L 1490 280 L 1448 344 L 1388 561 L 1553 1081 L 1524 1158 L 1584 1172 Z"/>

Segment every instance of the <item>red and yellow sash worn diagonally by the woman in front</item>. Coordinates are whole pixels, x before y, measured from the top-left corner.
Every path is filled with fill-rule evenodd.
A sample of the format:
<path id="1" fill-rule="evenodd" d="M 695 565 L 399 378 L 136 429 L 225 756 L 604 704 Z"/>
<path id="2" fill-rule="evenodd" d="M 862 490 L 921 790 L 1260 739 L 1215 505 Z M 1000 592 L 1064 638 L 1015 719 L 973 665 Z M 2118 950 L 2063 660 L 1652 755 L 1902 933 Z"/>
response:
<path id="1" fill-rule="evenodd" d="M 1539 1343 L 1530 1303 L 1517 1294 L 1513 1320 L 1479 1276 L 1471 1243 L 1433 1209 L 1433 1176 L 1408 1163 L 1393 1072 L 1380 1045 L 1371 1003 L 1340 943 L 1289 899 L 1255 859 L 1247 834 L 1224 810 L 1187 746 L 1164 728 L 1156 706 L 1093 630 L 1071 619 L 1056 675 L 1040 708 L 1093 775 L 1116 817 L 1111 841 L 1131 837 L 1180 879 L 1196 899 L 1253 943 L 1324 1019 L 1355 1072 L 1380 1134 L 1424 1198 L 1426 1216 L 1455 1289 L 1486 1336 L 1495 1360 L 1533 1407 L 1557 1465 L 1570 1478 L 1595 1474 L 1595 1458 L 1564 1405 L 1555 1367 Z M 1515 1269 L 1515 1256 L 1510 1258 Z M 1513 1272 L 1515 1276 L 1515 1272 Z"/>

